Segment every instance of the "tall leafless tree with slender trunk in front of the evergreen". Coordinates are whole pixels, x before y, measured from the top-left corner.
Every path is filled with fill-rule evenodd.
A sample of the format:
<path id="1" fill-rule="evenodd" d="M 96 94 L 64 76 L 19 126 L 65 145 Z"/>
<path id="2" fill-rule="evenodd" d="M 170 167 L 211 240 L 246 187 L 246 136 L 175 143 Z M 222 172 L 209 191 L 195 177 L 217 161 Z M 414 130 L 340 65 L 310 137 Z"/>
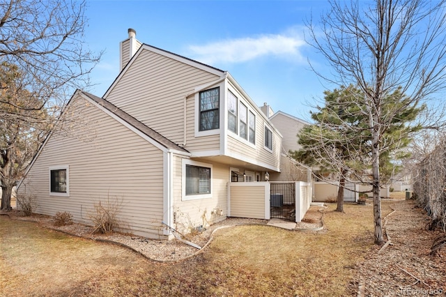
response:
<path id="1" fill-rule="evenodd" d="M 445 85 L 445 1 L 330 3 L 330 11 L 321 17 L 321 28 L 309 22 L 309 43 L 333 70 L 330 76 L 316 70 L 318 75 L 338 86 L 354 84 L 364 93 L 361 100 L 371 132 L 374 234 L 380 244 L 383 135 L 402 109 L 419 106 Z M 383 109 L 383 98 L 397 88 L 409 99 Z"/>

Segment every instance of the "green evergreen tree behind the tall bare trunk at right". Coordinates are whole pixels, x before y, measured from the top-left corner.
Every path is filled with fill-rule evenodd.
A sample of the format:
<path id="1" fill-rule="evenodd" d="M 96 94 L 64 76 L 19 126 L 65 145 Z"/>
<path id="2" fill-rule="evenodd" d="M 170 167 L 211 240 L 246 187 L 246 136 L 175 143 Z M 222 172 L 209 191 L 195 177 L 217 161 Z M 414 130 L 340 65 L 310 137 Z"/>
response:
<path id="1" fill-rule="evenodd" d="M 390 125 L 381 130 L 380 178 L 383 184 L 399 171 L 398 161 L 408 157 L 404 148 L 420 125 L 412 125 L 424 106 L 409 106 L 410 100 L 397 89 L 385 96 L 383 116 L 391 109 L 400 109 Z M 293 157 L 299 162 L 318 168 L 324 180 L 339 181 L 337 211 L 344 211 L 344 187 L 348 183 L 372 184 L 371 130 L 364 93 L 355 86 L 325 91 L 325 105 L 312 112 L 314 124 L 306 125 L 298 134 L 302 148 Z M 385 119 L 383 119 L 385 121 Z"/>

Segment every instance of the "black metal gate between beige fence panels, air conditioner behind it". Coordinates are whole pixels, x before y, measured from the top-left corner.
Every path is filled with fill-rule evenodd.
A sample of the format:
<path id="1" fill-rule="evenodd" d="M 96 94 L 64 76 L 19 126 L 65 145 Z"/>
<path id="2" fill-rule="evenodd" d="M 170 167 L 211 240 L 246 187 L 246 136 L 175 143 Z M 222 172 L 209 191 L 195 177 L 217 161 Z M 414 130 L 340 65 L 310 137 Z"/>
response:
<path id="1" fill-rule="evenodd" d="M 270 183 L 271 218 L 295 220 L 295 183 Z"/>

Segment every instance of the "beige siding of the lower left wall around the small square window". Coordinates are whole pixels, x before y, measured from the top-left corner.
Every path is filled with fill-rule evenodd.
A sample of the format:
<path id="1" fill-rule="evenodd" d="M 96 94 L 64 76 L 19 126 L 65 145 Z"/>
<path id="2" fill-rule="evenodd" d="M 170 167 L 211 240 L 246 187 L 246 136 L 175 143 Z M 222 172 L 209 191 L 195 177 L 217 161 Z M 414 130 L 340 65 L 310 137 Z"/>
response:
<path id="1" fill-rule="evenodd" d="M 82 98 L 68 110 L 95 119 L 88 129 L 75 124 L 77 139 L 53 134 L 19 191 L 33 195 L 36 213 L 68 211 L 77 222 L 91 224 L 94 204 L 118 203 L 121 231 L 163 238 L 163 153 L 139 135 Z M 70 197 L 49 195 L 49 167 L 69 166 Z"/>

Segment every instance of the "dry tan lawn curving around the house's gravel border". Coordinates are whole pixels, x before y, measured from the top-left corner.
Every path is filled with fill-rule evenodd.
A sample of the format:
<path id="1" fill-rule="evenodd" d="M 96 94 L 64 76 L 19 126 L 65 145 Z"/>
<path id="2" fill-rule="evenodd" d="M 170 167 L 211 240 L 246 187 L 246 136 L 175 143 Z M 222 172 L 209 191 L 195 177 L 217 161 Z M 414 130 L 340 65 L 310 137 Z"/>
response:
<path id="1" fill-rule="evenodd" d="M 392 210 L 383 201 L 383 216 Z M 354 266 L 373 244 L 372 206 L 332 204 L 319 233 L 266 226 L 222 229 L 197 257 L 148 261 L 0 216 L 6 296 L 353 296 Z M 9 294 L 9 295 L 8 295 Z"/>

